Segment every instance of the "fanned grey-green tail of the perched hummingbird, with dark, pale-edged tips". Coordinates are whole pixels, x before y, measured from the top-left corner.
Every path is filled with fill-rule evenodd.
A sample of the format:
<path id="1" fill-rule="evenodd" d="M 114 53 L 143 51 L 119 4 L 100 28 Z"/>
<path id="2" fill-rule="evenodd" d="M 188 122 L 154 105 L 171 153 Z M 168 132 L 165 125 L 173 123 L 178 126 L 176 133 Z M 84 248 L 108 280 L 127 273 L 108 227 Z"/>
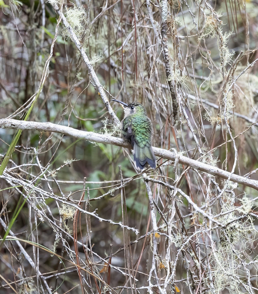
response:
<path id="1" fill-rule="evenodd" d="M 134 165 L 137 169 L 142 170 L 148 163 L 153 169 L 156 168 L 156 157 L 151 146 L 140 147 L 136 142 L 133 144 Z"/>

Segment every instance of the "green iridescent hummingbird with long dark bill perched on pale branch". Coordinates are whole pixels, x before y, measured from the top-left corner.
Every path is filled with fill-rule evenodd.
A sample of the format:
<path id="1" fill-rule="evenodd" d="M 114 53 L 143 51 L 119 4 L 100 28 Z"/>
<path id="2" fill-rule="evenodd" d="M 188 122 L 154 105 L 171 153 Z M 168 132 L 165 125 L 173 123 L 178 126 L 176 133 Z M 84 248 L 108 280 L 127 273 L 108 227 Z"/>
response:
<path id="1" fill-rule="evenodd" d="M 143 104 L 134 101 L 126 104 L 122 101 L 111 99 L 124 105 L 124 119 L 121 121 L 121 133 L 125 141 L 133 147 L 134 165 L 138 170 L 143 170 L 148 163 L 153 169 L 156 168 L 151 141 L 153 124 L 147 116 Z"/>

